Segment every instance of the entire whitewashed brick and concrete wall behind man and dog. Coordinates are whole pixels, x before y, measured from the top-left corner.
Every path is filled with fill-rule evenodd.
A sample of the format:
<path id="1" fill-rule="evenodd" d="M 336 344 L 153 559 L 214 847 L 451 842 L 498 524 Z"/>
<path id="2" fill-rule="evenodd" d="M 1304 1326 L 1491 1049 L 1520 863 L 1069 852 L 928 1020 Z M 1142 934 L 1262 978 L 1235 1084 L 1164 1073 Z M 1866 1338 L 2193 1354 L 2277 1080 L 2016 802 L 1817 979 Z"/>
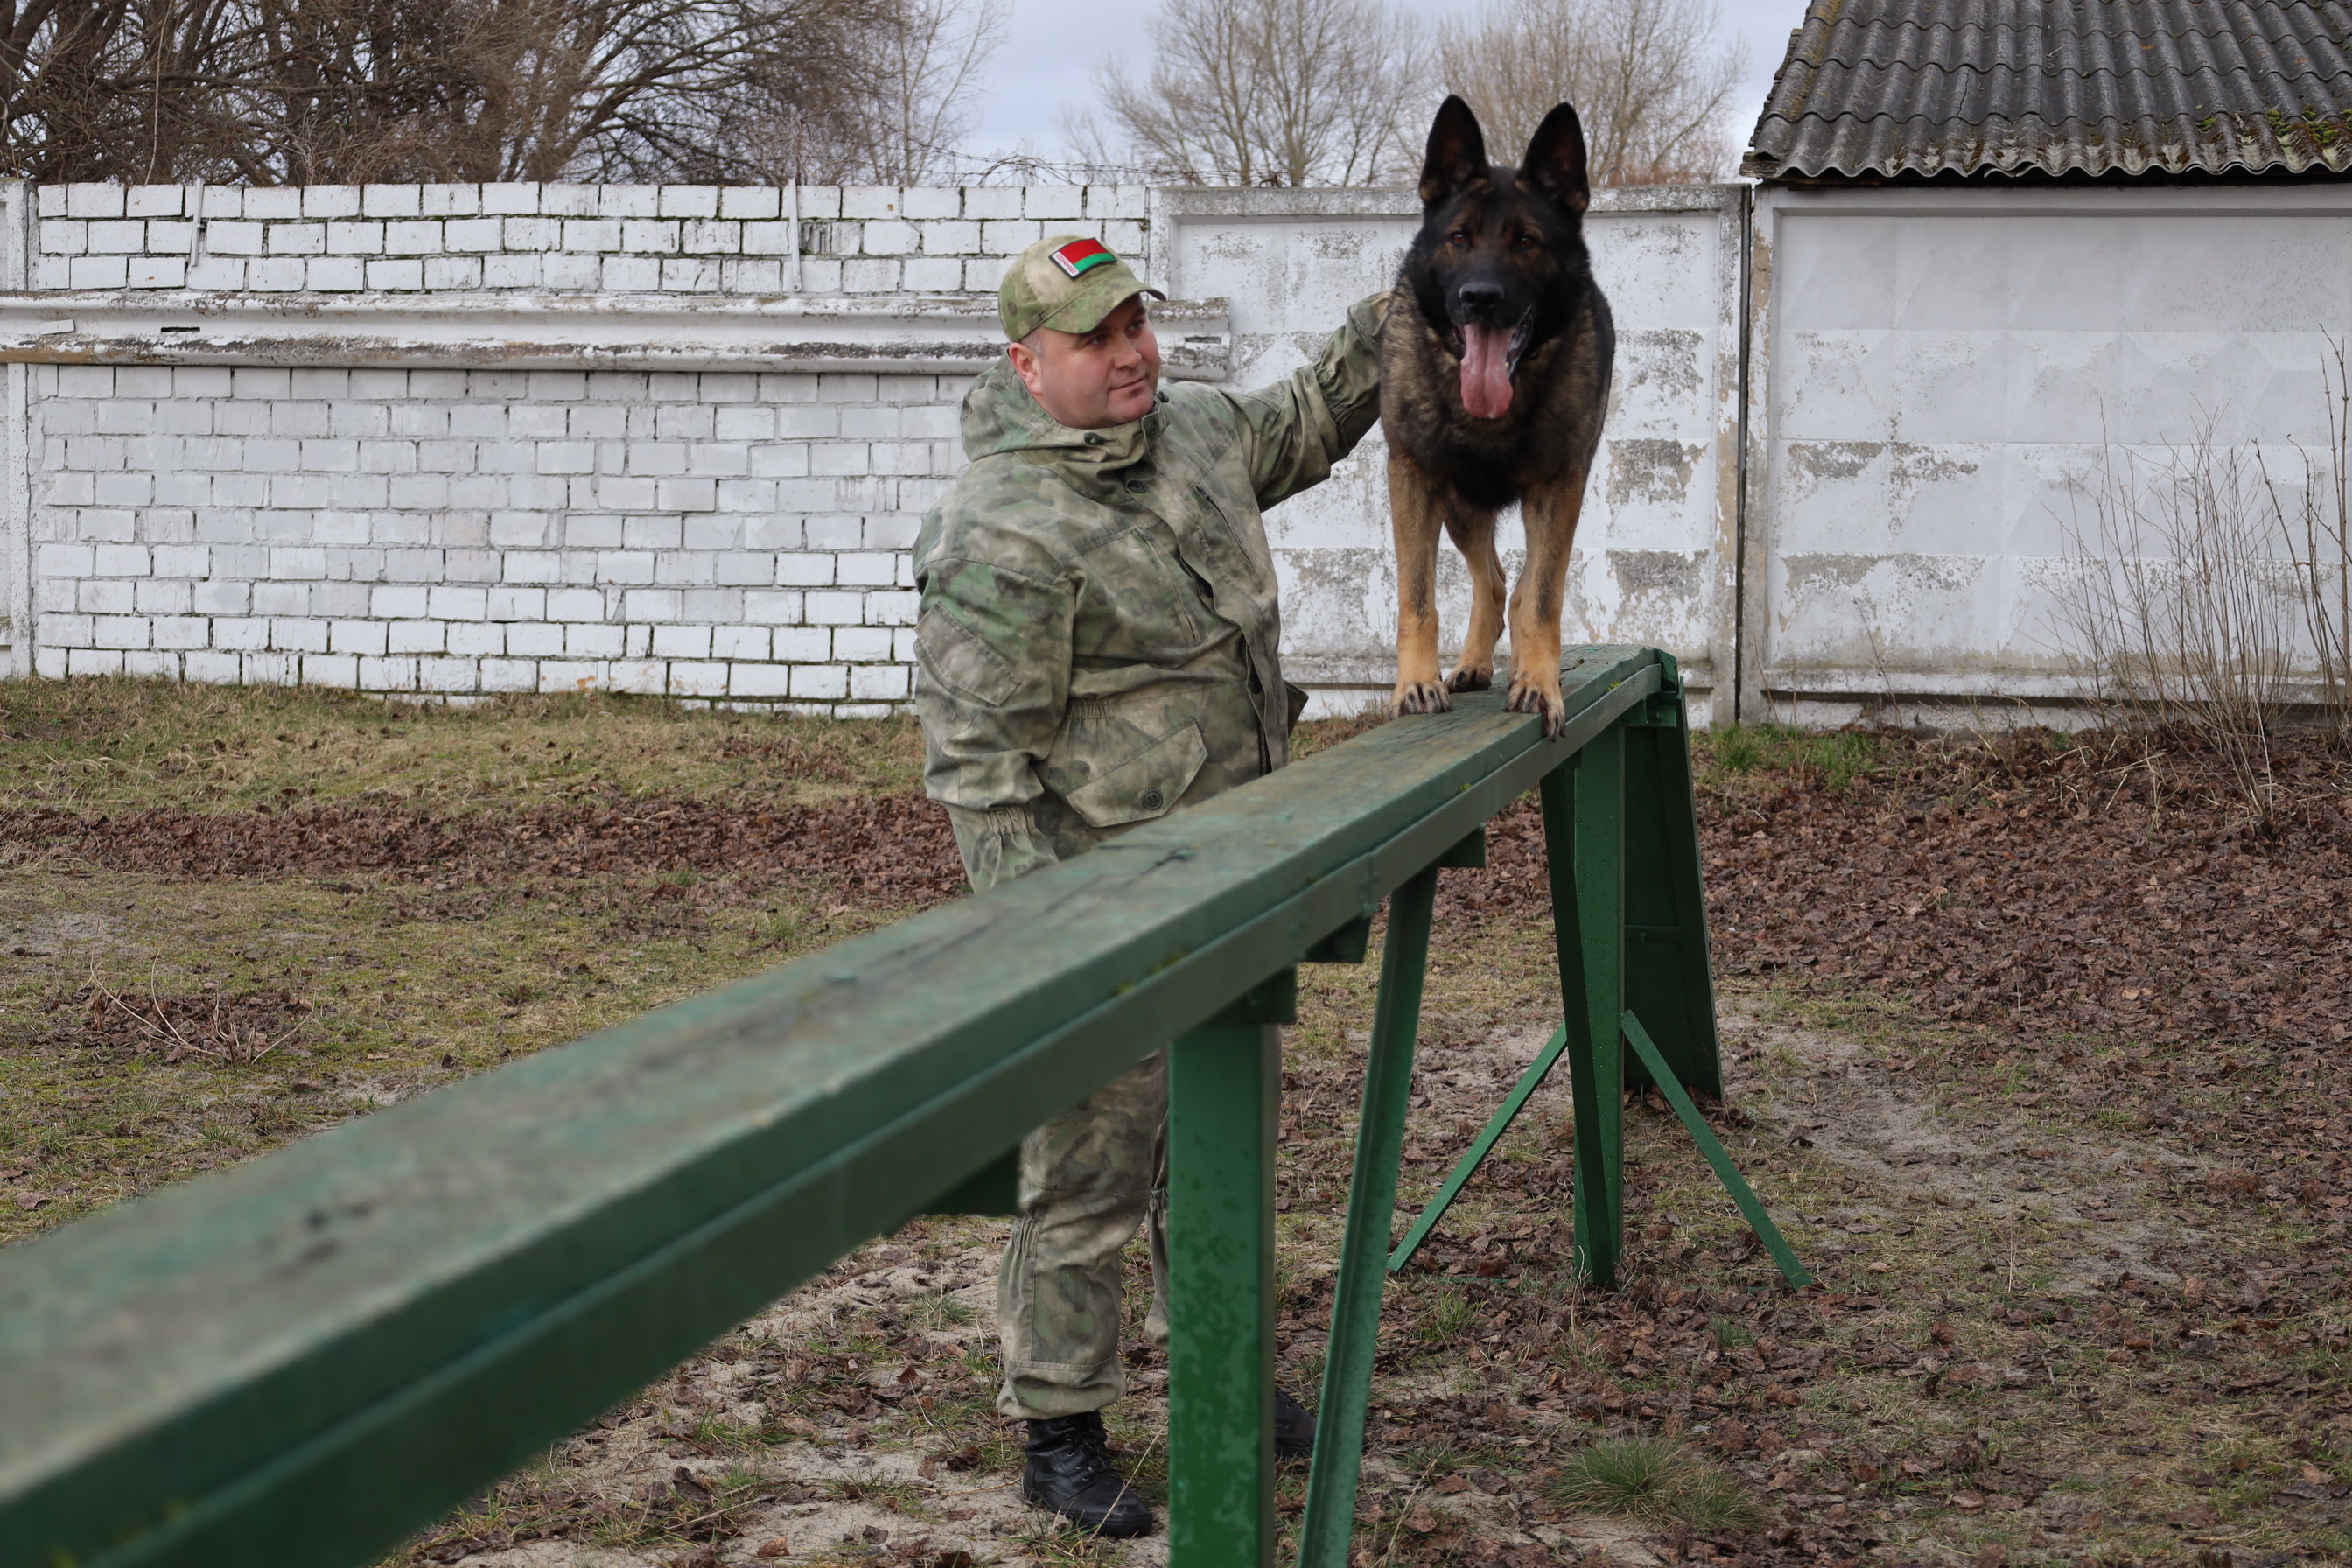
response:
<path id="1" fill-rule="evenodd" d="M 2296 468 L 2352 339 L 2340 183 L 1748 200 L 1604 190 L 1588 223 L 1621 355 L 1566 632 L 1675 649 L 1705 717 L 1733 684 L 1743 717 L 2079 696 L 2084 480 L 2201 428 Z M 1414 221 L 1374 190 L 0 186 L 9 668 L 884 710 L 1007 256 L 1101 235 L 1176 296 L 1171 374 L 1261 386 Z M 1268 520 L 1319 710 L 1388 689 L 1385 517 L 1374 435 Z"/>

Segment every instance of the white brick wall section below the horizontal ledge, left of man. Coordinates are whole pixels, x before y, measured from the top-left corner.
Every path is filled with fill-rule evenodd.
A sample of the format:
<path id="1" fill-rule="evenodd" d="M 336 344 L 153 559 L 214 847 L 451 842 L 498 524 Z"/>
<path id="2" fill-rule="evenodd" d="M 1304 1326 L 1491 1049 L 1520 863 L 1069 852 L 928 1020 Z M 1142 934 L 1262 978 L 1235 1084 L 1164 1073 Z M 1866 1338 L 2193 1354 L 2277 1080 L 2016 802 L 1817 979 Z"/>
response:
<path id="1" fill-rule="evenodd" d="M 938 376 L 38 367 L 35 668 L 908 696 Z"/>

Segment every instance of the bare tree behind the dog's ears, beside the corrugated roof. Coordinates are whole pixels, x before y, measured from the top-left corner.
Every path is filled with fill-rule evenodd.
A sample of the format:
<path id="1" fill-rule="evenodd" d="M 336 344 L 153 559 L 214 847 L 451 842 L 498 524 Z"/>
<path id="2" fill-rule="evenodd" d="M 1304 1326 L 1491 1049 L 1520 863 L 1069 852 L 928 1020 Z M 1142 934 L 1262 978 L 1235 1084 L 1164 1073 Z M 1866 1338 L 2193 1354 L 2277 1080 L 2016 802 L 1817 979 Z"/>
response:
<path id="1" fill-rule="evenodd" d="M 1726 110 L 1748 73 L 1748 47 L 1719 33 L 1715 0 L 1491 0 L 1442 28 L 1437 71 L 1491 148 L 1526 146 L 1569 101 L 1595 183 L 1710 181 L 1731 167 Z"/>

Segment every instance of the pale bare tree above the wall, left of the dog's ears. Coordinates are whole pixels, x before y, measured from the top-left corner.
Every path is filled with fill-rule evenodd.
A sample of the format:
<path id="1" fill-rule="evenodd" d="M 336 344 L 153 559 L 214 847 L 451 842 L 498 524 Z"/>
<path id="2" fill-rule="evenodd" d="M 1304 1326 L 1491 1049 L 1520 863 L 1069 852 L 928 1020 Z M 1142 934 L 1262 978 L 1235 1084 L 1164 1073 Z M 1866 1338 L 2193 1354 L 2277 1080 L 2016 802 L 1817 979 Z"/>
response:
<path id="1" fill-rule="evenodd" d="M 1096 73 L 1108 125 L 1065 120 L 1089 165 L 1216 186 L 1362 186 L 1399 174 L 1425 94 L 1418 28 L 1381 0 L 1164 0 L 1143 82 Z"/>

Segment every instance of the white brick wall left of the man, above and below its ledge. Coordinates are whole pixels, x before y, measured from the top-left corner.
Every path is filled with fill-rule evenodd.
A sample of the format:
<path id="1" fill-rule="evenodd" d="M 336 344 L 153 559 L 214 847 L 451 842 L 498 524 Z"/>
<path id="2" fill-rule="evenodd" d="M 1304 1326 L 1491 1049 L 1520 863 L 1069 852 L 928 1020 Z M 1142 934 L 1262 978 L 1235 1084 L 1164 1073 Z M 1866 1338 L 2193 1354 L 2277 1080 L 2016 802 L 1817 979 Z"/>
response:
<path id="1" fill-rule="evenodd" d="M 788 190 L 49 186 L 9 209 L 38 214 L 33 292 L 169 289 L 193 310 L 230 292 L 993 296 L 1047 223 L 1148 268 L 1148 197 L 804 186 L 797 259 Z M 16 668 L 889 710 L 910 696 L 908 550 L 962 465 L 967 378 L 887 364 L 33 364 Z"/>

